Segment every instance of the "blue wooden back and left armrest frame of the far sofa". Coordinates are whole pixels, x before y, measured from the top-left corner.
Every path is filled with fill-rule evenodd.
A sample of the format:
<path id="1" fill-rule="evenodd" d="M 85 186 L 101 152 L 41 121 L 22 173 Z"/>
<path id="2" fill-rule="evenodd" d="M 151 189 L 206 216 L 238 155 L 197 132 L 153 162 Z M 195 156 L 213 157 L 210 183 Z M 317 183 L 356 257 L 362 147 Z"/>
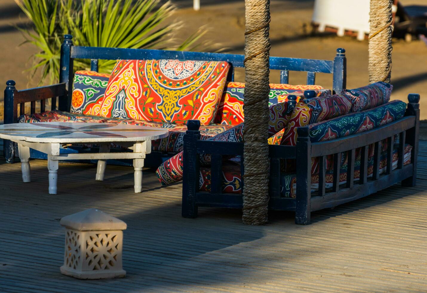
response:
<path id="1" fill-rule="evenodd" d="M 70 111 L 73 86 L 73 60 L 91 59 L 91 70 L 98 71 L 98 60 L 107 59 L 179 59 L 179 60 L 206 60 L 227 61 L 231 65 L 227 79 L 234 81 L 234 68 L 244 67 L 244 55 L 223 53 L 202 53 L 184 51 L 123 49 L 105 47 L 79 47 L 74 46 L 72 36 L 65 35 L 61 45 L 61 59 L 59 83 L 51 86 L 43 86 L 34 89 L 18 91 L 15 82 L 9 80 L 6 83 L 4 95 L 4 123 L 16 123 L 18 119 L 18 104 L 20 115 L 25 114 L 25 103 L 31 103 L 30 113 L 35 113 L 35 102 L 41 102 L 41 111 L 45 110 L 47 99 L 52 99 L 51 110 L 56 109 L 58 97 L 58 110 Z M 333 60 L 299 59 L 270 57 L 270 69 L 280 70 L 281 83 L 288 83 L 289 71 L 307 71 L 307 84 L 314 84 L 316 72 L 333 74 L 333 91 L 341 92 L 346 86 L 346 58 L 345 50 L 336 50 Z M 5 140 L 4 157 L 6 162 L 13 163 L 16 148 L 13 142 Z"/>

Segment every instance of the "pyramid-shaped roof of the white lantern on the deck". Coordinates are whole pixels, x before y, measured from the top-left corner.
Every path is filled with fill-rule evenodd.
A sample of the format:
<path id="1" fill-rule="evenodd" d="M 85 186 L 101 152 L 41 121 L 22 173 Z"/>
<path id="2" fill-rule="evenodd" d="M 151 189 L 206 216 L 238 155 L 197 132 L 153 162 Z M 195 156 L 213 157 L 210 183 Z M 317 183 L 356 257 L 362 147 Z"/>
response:
<path id="1" fill-rule="evenodd" d="M 77 231 L 125 230 L 127 227 L 122 220 L 97 209 L 88 209 L 65 216 L 61 219 L 60 224 Z"/>

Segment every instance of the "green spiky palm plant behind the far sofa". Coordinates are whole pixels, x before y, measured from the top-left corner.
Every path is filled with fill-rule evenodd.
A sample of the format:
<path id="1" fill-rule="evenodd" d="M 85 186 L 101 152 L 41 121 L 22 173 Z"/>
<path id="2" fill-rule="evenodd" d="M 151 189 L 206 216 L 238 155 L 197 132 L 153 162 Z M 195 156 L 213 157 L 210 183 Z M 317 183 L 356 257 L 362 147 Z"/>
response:
<path id="1" fill-rule="evenodd" d="M 26 42 L 39 48 L 32 58 L 33 73 L 41 70 L 40 83 L 59 78 L 59 55 L 64 34 L 78 46 L 194 50 L 200 47 L 201 29 L 180 43 L 173 38 L 179 23 L 166 24 L 174 12 L 161 0 L 15 0 L 34 24 L 20 29 Z M 100 60 L 99 71 L 111 72 L 113 60 Z M 76 70 L 89 69 L 88 60 L 75 60 Z"/>

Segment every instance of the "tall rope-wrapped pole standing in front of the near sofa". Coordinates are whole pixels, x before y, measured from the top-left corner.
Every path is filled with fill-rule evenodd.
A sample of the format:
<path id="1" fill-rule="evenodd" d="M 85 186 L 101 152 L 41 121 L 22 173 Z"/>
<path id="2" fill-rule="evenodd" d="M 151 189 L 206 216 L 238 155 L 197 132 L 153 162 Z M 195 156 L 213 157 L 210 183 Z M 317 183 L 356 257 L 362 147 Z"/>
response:
<path id="1" fill-rule="evenodd" d="M 268 221 L 269 0 L 245 0 L 243 223 Z"/>

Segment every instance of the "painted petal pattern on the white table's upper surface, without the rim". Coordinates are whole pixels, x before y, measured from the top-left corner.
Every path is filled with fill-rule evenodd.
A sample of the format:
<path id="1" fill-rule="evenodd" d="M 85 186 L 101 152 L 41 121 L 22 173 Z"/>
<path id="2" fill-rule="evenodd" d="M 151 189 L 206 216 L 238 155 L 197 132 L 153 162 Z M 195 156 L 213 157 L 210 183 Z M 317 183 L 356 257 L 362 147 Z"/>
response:
<path id="1" fill-rule="evenodd" d="M 124 124 L 89 124 L 89 123 L 68 123 L 64 122 L 61 124 L 54 123 L 30 123 L 36 127 L 33 128 L 6 128 L 5 130 L 0 130 L 0 133 L 8 135 L 18 135 L 18 136 L 28 136 L 36 138 L 51 138 L 57 136 L 67 136 L 72 135 L 73 133 L 85 133 L 91 136 L 99 137 L 129 137 L 126 134 L 120 134 L 117 132 L 126 132 L 128 134 L 132 133 L 133 136 L 142 136 L 141 132 L 145 131 L 160 131 L 160 129 L 152 128 L 146 129 L 142 127 L 137 127 L 134 125 L 124 125 Z M 68 124 L 68 125 L 64 125 Z M 83 125 L 82 125 L 83 124 Z M 23 125 L 23 124 L 21 124 Z M 6 125 L 5 125 L 6 126 Z M 43 131 L 43 128 L 47 128 L 47 131 Z M 111 128 L 113 127 L 113 128 Z M 108 128 L 111 128 L 109 130 Z M 139 134 L 138 134 L 139 133 Z"/>

